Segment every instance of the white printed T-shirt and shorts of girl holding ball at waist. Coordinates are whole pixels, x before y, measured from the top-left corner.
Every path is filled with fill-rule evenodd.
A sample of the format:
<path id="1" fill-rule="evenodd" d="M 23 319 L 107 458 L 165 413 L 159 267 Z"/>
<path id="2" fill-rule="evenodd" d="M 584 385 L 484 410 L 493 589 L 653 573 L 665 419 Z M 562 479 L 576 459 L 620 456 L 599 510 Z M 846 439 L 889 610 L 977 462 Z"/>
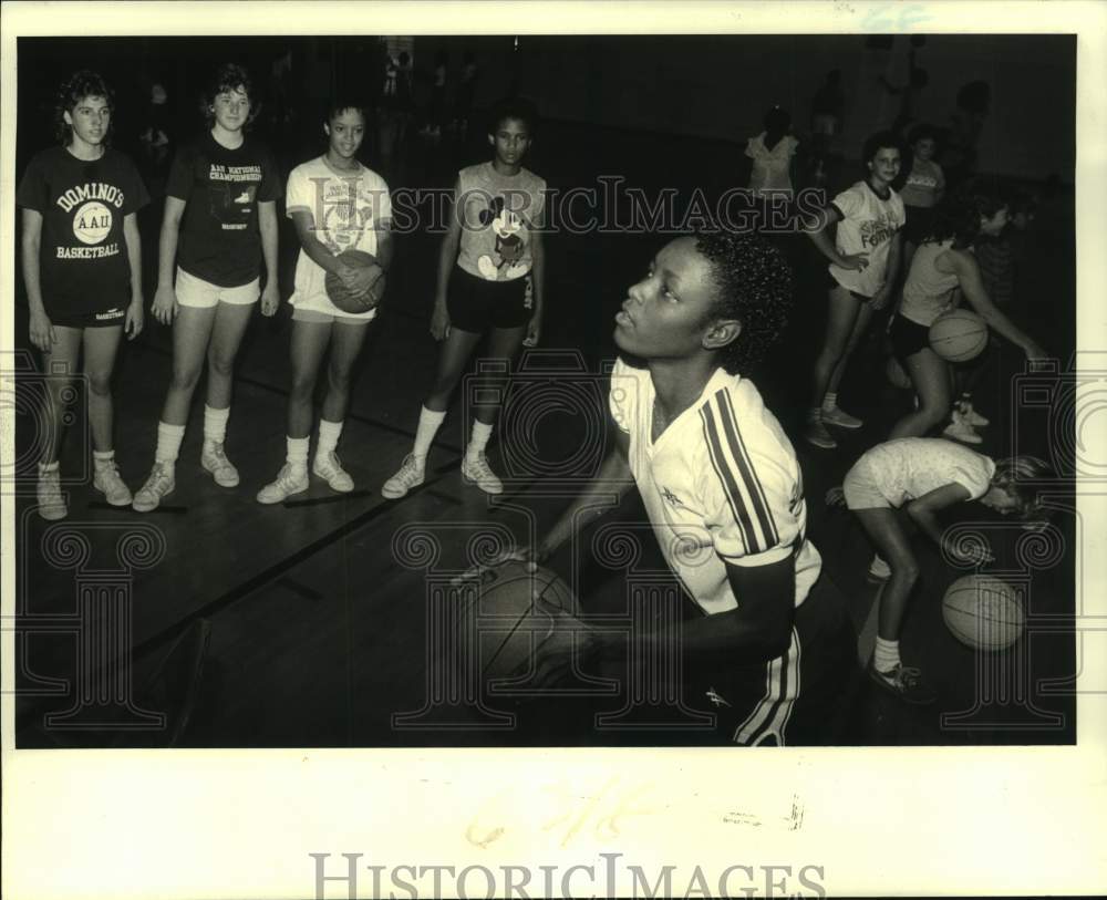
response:
<path id="1" fill-rule="evenodd" d="M 312 234 L 332 254 L 364 250 L 376 254 L 376 229 L 392 219 L 392 200 L 384 179 L 362 166 L 355 173 L 339 173 L 320 156 L 292 169 L 286 192 L 288 217 L 300 210 L 311 216 Z M 327 272 L 303 248 L 296 260 L 296 286 L 289 302 L 330 315 L 372 319 L 376 310 L 343 312 L 327 297 Z"/>

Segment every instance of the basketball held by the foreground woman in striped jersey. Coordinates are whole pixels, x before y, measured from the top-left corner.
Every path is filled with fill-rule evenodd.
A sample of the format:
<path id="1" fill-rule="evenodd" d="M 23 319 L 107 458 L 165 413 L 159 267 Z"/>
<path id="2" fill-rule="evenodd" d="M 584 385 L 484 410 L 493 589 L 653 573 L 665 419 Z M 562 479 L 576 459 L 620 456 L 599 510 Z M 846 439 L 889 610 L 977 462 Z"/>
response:
<path id="1" fill-rule="evenodd" d="M 548 569 L 528 571 L 525 562 L 508 561 L 480 573 L 479 581 L 461 589 L 457 627 L 472 630 L 480 681 L 517 674 L 541 642 L 563 625 L 550 608 L 576 617 L 577 598 Z M 463 658 L 464 659 L 464 658 Z M 470 663 L 472 665 L 472 663 Z"/>

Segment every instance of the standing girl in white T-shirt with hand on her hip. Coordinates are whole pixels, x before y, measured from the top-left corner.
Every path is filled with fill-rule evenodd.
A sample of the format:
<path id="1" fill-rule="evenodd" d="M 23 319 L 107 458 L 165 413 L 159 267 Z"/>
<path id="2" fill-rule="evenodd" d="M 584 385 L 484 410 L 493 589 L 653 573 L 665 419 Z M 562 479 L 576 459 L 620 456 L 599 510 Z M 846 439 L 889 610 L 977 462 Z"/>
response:
<path id="1" fill-rule="evenodd" d="M 820 227 L 808 231 L 830 261 L 827 332 L 815 360 L 811 407 L 804 431 L 804 437 L 817 447 L 837 446 L 827 425 L 859 428 L 863 424 L 838 406 L 838 385 L 873 311 L 888 302 L 896 286 L 904 214 L 891 184 L 899 175 L 901 157 L 899 135 L 872 135 L 865 142 L 865 180 L 835 197 Z M 827 229 L 835 223 L 838 232 L 831 241 Z"/>

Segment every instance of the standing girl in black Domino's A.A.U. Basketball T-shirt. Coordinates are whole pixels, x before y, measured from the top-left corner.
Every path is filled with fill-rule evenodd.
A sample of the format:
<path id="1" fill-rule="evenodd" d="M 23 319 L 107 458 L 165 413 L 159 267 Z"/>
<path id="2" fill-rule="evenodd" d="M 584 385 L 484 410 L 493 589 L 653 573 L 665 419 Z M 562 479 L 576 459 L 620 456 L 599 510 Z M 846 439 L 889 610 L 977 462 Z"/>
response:
<path id="1" fill-rule="evenodd" d="M 81 370 L 87 383 L 93 487 L 112 506 L 131 492 L 115 466 L 112 371 L 123 333 L 143 327 L 142 250 L 136 211 L 149 199 L 130 158 L 108 146 L 113 95 L 83 70 L 58 91 L 61 146 L 27 167 L 17 193 L 23 209 L 22 266 L 31 343 L 42 351 L 48 425 L 39 461 L 38 505 L 45 519 L 68 515 L 58 452 L 64 397 Z"/>

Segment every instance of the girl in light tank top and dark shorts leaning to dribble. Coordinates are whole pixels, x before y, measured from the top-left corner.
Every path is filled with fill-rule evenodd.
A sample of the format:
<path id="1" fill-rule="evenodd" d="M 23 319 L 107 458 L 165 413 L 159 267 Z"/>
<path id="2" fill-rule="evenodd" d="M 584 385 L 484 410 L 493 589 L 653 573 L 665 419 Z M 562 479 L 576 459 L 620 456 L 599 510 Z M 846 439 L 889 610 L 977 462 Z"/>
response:
<path id="1" fill-rule="evenodd" d="M 889 330 L 892 351 L 919 395 L 919 407 L 896 423 L 890 437 L 921 437 L 950 416 L 953 364 L 930 349 L 929 329 L 962 296 L 990 328 L 1022 348 L 1028 360 L 1046 359 L 1034 339 L 989 299 L 972 252 L 977 237 L 999 235 L 1006 224 L 1007 200 L 991 182 L 969 182 L 939 207 L 931 234 L 911 261 L 903 300 Z"/>

